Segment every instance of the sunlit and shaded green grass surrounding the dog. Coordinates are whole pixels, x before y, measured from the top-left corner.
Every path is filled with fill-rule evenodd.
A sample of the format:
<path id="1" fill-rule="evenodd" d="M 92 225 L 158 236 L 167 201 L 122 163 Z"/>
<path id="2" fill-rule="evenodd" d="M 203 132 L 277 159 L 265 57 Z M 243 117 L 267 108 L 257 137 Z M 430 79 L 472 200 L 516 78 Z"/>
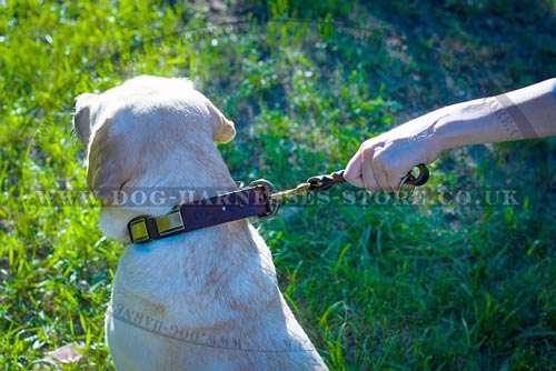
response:
<path id="1" fill-rule="evenodd" d="M 238 126 L 220 147 L 235 179 L 282 189 L 341 169 L 365 138 L 408 117 L 554 77 L 554 2 L 522 8 L 0 2 L 1 368 L 113 369 L 103 313 L 125 247 L 101 237 L 85 192 L 77 94 L 188 76 Z M 331 193 L 260 223 L 330 369 L 556 369 L 555 148 L 445 153 L 426 186 L 433 204 Z M 518 204 L 487 204 L 484 191 L 500 189 Z M 474 202 L 437 199 L 458 190 Z M 73 341 L 81 361 L 44 359 Z"/>

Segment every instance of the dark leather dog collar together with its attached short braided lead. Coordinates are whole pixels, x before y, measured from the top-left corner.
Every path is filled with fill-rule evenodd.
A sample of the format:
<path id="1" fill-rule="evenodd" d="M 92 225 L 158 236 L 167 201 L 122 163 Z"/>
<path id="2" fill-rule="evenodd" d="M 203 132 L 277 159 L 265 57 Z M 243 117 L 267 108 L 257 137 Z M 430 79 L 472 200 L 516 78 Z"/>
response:
<path id="1" fill-rule="evenodd" d="M 410 171 L 400 181 L 398 198 L 408 198 L 414 188 L 427 182 L 429 172 L 425 164 L 416 167 L 417 176 Z M 146 243 L 162 238 L 187 233 L 198 229 L 222 224 L 240 219 L 257 217 L 272 218 L 278 212 L 284 199 L 326 191 L 334 184 L 344 183 L 344 170 L 327 176 L 316 176 L 296 188 L 278 192 L 276 187 L 265 180 L 256 180 L 248 188 L 177 205 L 161 217 L 139 215 L 128 223 L 132 243 Z M 401 188 L 410 186 L 408 193 L 401 194 Z"/>

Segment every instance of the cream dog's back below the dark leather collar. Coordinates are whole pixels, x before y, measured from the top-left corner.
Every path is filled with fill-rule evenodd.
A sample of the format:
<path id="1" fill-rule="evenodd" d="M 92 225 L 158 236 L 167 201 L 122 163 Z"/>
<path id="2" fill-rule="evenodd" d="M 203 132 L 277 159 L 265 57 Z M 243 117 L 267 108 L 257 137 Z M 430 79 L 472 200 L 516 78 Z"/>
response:
<path id="1" fill-rule="evenodd" d="M 117 362 L 132 370 L 326 369 L 278 291 L 268 248 L 252 228 L 230 231 L 246 225 L 152 243 L 149 257 L 128 248 L 107 312 Z"/>

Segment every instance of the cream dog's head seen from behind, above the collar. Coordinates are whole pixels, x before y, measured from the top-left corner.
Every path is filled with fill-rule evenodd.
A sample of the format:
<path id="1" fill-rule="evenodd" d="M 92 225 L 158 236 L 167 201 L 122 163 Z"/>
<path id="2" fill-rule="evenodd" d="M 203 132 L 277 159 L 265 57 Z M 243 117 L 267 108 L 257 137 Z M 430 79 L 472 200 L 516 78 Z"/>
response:
<path id="1" fill-rule="evenodd" d="M 73 128 L 87 150 L 87 183 L 110 213 L 107 223 L 171 207 L 115 210 L 115 195 L 125 190 L 234 184 L 214 146 L 235 137 L 234 123 L 188 80 L 142 76 L 100 94 L 81 94 Z M 100 224 L 121 238 L 103 228 L 102 212 Z"/>

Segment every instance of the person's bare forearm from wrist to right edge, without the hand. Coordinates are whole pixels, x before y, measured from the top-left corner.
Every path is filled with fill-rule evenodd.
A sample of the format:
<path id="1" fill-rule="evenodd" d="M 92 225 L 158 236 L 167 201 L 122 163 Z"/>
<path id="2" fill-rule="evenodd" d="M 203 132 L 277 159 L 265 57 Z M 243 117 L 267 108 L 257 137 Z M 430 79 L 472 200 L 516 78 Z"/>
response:
<path id="1" fill-rule="evenodd" d="M 478 143 L 556 136 L 556 79 L 441 109 L 435 123 L 438 152 Z"/>

